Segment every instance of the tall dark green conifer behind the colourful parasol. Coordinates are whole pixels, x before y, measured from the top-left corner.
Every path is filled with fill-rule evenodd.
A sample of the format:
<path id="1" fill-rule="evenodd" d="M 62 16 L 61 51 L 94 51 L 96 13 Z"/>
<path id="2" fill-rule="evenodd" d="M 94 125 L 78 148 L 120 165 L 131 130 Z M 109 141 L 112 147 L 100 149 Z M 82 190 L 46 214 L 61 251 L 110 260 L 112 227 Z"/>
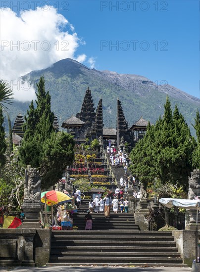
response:
<path id="1" fill-rule="evenodd" d="M 50 94 L 45 90 L 44 77 L 40 78 L 37 88 L 36 108 L 32 101 L 25 117 L 19 154 L 24 166 L 40 168 L 41 186 L 49 188 L 61 178 L 66 166 L 72 164 L 74 140 L 66 133 L 54 132 L 54 114 L 50 110 Z"/>

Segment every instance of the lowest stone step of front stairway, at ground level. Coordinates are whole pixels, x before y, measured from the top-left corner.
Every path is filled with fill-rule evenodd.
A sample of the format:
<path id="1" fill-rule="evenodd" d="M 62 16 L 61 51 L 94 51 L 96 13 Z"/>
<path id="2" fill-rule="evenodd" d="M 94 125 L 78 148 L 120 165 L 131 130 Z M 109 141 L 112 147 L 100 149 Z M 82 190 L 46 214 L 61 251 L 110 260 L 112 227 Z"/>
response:
<path id="1" fill-rule="evenodd" d="M 116 266 L 130 266 L 132 267 L 133 264 L 132 263 L 108 263 L 108 262 L 101 262 L 101 263 L 81 263 L 81 262 L 77 262 L 77 263 L 59 263 L 59 262 L 56 262 L 56 263 L 47 263 L 47 266 L 70 266 L 70 267 L 77 267 L 77 266 L 83 266 L 84 268 L 87 269 L 87 266 L 88 267 L 91 267 L 91 266 L 98 266 L 98 267 L 102 267 L 102 266 L 108 266 L 108 267 L 116 267 Z M 134 266 L 136 267 L 188 267 L 187 265 L 184 265 L 184 264 L 174 264 L 174 263 L 168 263 L 168 264 L 163 264 L 163 263 L 134 263 Z"/>

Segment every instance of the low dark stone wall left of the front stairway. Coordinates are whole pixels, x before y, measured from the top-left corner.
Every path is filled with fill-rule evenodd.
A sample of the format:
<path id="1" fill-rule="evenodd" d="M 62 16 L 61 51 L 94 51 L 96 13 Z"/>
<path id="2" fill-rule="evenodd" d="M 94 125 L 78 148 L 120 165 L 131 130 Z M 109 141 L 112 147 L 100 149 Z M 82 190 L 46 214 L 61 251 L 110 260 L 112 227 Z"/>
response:
<path id="1" fill-rule="evenodd" d="M 46 265 L 50 239 L 50 229 L 0 228 L 0 266 Z"/>

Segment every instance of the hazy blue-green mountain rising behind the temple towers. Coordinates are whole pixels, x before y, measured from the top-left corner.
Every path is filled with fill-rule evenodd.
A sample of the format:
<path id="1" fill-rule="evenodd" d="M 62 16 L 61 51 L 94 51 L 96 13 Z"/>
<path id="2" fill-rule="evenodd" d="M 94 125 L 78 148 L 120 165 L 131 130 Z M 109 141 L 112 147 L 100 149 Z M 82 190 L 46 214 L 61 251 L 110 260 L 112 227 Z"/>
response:
<path id="1" fill-rule="evenodd" d="M 22 80 L 29 80 L 36 87 L 41 75 L 45 76 L 46 86 L 51 95 L 51 108 L 60 123 L 80 112 L 88 87 L 92 91 L 96 107 L 102 96 L 104 127 L 116 126 L 117 97 L 122 103 L 129 126 L 141 116 L 155 123 L 164 112 L 163 105 L 167 94 L 172 109 L 177 104 L 189 125 L 194 124 L 197 108 L 200 107 L 199 98 L 168 84 L 156 85 L 139 75 L 90 69 L 70 58 L 60 60 L 47 69 L 32 71 L 23 76 Z M 28 104 L 17 101 L 12 104 L 9 114 L 13 122 L 18 112 L 26 114 Z"/>

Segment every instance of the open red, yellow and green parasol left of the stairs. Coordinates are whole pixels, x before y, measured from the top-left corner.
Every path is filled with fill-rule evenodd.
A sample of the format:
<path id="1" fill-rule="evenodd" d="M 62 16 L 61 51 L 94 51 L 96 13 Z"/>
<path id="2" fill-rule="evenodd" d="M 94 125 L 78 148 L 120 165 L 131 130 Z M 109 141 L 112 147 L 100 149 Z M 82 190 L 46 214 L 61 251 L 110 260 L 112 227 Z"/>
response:
<path id="1" fill-rule="evenodd" d="M 59 191 L 46 191 L 41 193 L 41 202 L 45 203 L 45 194 L 46 194 L 46 203 L 50 204 L 58 204 L 61 205 L 66 202 L 71 202 L 72 198 L 69 194 L 65 194 Z"/>

